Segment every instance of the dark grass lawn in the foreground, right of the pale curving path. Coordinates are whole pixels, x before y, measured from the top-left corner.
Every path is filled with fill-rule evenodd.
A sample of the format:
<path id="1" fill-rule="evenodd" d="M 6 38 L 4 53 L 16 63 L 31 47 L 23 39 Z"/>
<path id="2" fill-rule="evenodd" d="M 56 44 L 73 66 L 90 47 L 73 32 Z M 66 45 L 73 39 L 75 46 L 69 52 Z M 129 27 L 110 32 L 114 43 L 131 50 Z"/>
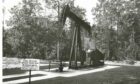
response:
<path id="1" fill-rule="evenodd" d="M 75 77 L 56 77 L 34 81 L 32 84 L 140 84 L 140 67 L 122 66 Z"/>

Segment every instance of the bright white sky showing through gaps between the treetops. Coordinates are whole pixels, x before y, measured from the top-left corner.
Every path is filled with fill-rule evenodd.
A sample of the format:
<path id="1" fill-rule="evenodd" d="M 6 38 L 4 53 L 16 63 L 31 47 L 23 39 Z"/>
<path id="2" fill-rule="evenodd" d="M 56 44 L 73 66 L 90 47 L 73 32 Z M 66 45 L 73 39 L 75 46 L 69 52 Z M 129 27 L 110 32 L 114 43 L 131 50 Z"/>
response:
<path id="1" fill-rule="evenodd" d="M 8 10 L 10 10 L 10 8 L 12 8 L 14 5 L 17 5 L 19 2 L 21 2 L 21 0 L 5 0 L 5 19 L 8 19 L 10 17 L 10 13 Z M 94 23 L 91 10 L 96 6 L 96 3 L 97 0 L 75 0 L 74 2 L 75 6 L 86 9 L 86 19 L 88 22 L 90 22 L 90 25 Z"/>

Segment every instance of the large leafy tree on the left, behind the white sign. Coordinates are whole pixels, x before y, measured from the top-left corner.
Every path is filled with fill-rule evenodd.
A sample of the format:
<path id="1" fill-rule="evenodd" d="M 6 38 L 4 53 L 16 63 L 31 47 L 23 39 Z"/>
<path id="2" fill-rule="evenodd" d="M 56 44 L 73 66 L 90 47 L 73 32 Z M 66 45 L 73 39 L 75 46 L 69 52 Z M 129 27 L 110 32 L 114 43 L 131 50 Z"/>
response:
<path id="1" fill-rule="evenodd" d="M 42 26 L 38 19 L 41 11 L 40 3 L 36 0 L 23 0 L 11 9 L 12 17 L 9 26 L 13 31 L 13 41 L 8 41 L 13 46 L 18 57 L 45 58 L 48 50 L 46 40 L 48 28 Z M 36 12 L 38 11 L 38 12 Z M 40 18 L 40 17 L 39 17 Z M 16 40 L 17 39 L 17 40 Z"/>

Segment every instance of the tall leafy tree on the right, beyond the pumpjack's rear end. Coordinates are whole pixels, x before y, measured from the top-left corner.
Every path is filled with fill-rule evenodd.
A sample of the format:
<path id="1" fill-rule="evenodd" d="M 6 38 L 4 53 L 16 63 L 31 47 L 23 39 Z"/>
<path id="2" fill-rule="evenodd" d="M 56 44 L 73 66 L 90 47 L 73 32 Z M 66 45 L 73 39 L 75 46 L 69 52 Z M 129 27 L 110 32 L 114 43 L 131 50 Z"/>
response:
<path id="1" fill-rule="evenodd" d="M 134 40 L 130 42 L 130 39 L 135 37 L 134 33 L 136 31 L 134 30 L 138 29 L 139 25 L 136 24 L 139 22 L 137 17 L 139 15 L 134 2 L 133 0 L 99 0 L 99 4 L 93 9 L 93 15 L 95 15 L 97 21 L 96 26 L 99 30 L 103 30 L 98 41 L 103 42 L 103 39 L 106 41 L 101 45 L 106 46 L 105 49 L 109 58 L 111 53 L 114 53 L 114 56 L 117 56 L 115 58 L 118 60 L 127 59 L 130 56 L 135 57 L 132 53 L 137 51 L 137 48 L 136 45 L 132 45 L 135 43 Z M 115 29 L 114 34 L 116 33 L 116 35 L 114 37 L 109 35 L 111 33 L 110 29 Z M 115 45 L 110 42 L 112 38 L 114 38 L 113 43 Z M 130 46 L 133 46 L 133 48 L 129 48 Z M 128 48 L 134 50 L 127 51 Z"/>

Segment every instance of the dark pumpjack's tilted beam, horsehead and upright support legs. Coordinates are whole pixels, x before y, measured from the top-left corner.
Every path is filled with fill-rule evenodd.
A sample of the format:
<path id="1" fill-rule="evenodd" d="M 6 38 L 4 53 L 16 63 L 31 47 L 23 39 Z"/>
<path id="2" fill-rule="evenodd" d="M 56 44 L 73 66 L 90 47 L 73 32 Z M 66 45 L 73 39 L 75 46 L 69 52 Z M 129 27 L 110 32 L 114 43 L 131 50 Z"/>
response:
<path id="1" fill-rule="evenodd" d="M 75 23 L 75 28 L 73 29 L 73 36 L 72 36 L 72 43 L 70 49 L 70 58 L 69 58 L 69 68 L 77 69 L 77 59 L 78 56 L 83 56 L 82 50 L 82 43 L 81 43 L 81 30 L 85 30 L 88 36 L 91 38 L 91 26 L 85 22 L 84 20 L 80 19 L 76 14 L 74 14 L 71 10 L 69 5 L 64 6 L 61 14 L 60 23 L 63 27 L 66 22 L 66 18 L 70 18 Z M 72 65 L 72 57 L 74 58 L 74 64 Z M 84 58 L 84 57 L 81 57 Z M 85 58 L 84 58 L 85 59 Z M 83 64 L 84 60 L 81 60 L 81 64 Z"/>

